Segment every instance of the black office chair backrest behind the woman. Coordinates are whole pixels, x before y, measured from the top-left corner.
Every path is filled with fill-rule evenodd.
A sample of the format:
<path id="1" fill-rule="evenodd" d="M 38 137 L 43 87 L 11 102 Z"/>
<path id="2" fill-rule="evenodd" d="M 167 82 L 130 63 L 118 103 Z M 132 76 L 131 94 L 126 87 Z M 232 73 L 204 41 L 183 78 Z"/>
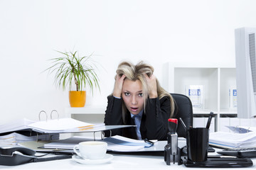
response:
<path id="1" fill-rule="evenodd" d="M 183 94 L 171 94 L 175 101 L 175 118 L 178 119 L 178 137 L 186 137 L 186 130 L 181 125 L 179 118 L 183 120 L 186 127 L 193 127 L 193 108 L 190 98 Z"/>

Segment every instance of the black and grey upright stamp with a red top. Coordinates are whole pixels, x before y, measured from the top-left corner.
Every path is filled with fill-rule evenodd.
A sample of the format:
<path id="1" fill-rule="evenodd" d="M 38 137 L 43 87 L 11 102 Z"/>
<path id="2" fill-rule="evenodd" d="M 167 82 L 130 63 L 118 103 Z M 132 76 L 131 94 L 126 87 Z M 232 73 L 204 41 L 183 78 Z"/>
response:
<path id="1" fill-rule="evenodd" d="M 167 134 L 167 145 L 164 147 L 164 161 L 167 165 L 171 162 L 181 163 L 181 149 L 178 147 L 178 135 L 176 133 L 178 120 L 174 118 L 168 119 L 169 132 Z"/>

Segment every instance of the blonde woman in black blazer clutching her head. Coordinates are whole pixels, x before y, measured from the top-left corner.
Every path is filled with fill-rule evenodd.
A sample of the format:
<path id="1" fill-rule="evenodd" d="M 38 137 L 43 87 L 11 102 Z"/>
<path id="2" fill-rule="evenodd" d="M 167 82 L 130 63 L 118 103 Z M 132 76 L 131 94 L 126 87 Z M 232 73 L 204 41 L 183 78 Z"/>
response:
<path id="1" fill-rule="evenodd" d="M 107 97 L 105 125 L 137 127 L 112 130 L 112 135 L 167 140 L 168 118 L 174 117 L 174 99 L 159 85 L 153 72 L 154 68 L 144 62 L 119 64 L 113 94 Z"/>

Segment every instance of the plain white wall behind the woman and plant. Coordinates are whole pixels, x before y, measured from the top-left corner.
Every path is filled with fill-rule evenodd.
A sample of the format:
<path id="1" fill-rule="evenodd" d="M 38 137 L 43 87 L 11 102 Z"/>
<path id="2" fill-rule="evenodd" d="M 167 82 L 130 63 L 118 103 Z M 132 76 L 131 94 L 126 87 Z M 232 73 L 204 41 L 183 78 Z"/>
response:
<path id="1" fill-rule="evenodd" d="M 53 85 L 55 50 L 78 50 L 102 67 L 101 94 L 87 105 L 106 105 L 121 60 L 151 63 L 160 81 L 165 62 L 235 64 L 234 29 L 256 26 L 254 0 L 1 0 L 0 124 L 38 119 L 52 109 L 64 117 L 68 90 Z"/>

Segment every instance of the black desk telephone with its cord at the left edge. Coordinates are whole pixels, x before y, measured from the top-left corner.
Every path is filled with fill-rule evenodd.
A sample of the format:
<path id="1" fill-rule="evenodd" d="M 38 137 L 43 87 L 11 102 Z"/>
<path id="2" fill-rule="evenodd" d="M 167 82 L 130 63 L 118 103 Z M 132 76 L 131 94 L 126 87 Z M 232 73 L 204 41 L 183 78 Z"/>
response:
<path id="1" fill-rule="evenodd" d="M 27 147 L 20 147 L 16 145 L 6 145 L 0 147 L 0 165 L 15 166 L 19 164 L 26 164 L 29 162 L 46 162 L 56 159 L 68 159 L 73 154 L 62 154 L 53 157 L 36 156 L 36 151 Z"/>

